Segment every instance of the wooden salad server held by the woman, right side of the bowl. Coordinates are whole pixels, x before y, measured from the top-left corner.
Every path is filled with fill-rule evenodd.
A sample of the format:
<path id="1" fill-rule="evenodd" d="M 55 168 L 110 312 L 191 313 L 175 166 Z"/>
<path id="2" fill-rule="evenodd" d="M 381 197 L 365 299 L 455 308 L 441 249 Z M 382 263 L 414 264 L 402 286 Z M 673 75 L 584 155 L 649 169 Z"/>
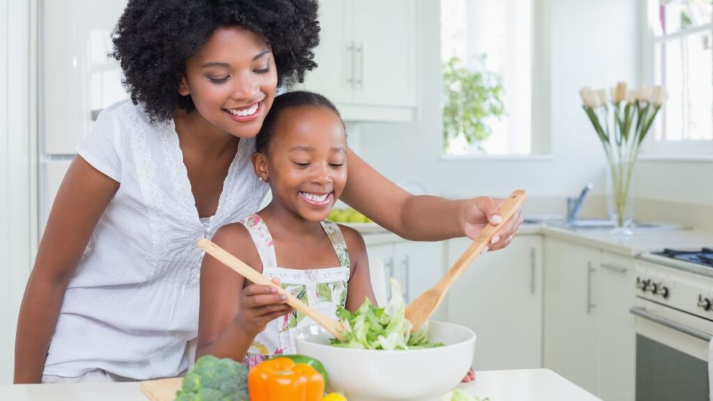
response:
<path id="1" fill-rule="evenodd" d="M 500 208 L 500 215 L 503 221 L 498 225 L 486 225 L 476 239 L 473 240 L 473 243 L 468 249 L 463 252 L 463 255 L 456 260 L 451 270 L 448 270 L 448 273 L 446 273 L 436 285 L 419 295 L 419 298 L 416 298 L 414 302 L 406 307 L 406 319 L 413 325 L 411 331 L 418 330 L 426 320 L 429 320 L 431 315 L 438 309 L 438 306 L 441 305 L 443 298 L 446 297 L 448 288 L 451 288 L 451 285 L 456 281 L 458 276 L 473 263 L 473 260 L 478 258 L 478 255 L 481 255 L 481 253 L 488 249 L 488 245 L 490 245 L 493 236 L 515 215 L 515 211 L 520 208 L 520 205 L 523 204 L 527 197 L 528 195 L 525 191 L 515 191 L 511 193 Z"/>

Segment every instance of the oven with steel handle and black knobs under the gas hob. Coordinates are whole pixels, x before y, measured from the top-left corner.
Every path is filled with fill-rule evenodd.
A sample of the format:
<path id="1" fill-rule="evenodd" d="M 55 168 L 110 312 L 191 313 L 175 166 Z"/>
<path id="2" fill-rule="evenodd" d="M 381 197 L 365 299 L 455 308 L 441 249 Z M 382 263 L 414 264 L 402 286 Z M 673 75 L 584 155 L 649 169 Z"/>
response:
<path id="1" fill-rule="evenodd" d="M 636 400 L 708 401 L 713 268 L 660 258 L 637 261 Z"/>

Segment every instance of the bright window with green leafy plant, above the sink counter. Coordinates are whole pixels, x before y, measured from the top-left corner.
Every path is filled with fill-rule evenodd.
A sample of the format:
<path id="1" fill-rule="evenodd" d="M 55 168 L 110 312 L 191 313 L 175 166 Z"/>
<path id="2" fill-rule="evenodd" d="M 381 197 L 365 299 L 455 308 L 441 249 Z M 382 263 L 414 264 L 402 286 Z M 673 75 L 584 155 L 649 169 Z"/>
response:
<path id="1" fill-rule="evenodd" d="M 543 153 L 533 125 L 535 0 L 442 0 L 443 153 Z M 544 81 L 543 81 L 544 82 Z M 534 128 L 533 128 L 534 127 Z"/>

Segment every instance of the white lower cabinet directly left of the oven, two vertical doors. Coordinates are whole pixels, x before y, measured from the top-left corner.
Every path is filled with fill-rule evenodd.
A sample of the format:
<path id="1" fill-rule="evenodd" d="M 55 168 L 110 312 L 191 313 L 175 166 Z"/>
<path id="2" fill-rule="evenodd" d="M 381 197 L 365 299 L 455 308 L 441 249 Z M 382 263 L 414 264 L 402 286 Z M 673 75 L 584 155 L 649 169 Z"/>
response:
<path id="1" fill-rule="evenodd" d="M 603 400 L 635 396 L 634 260 L 545 240 L 544 365 Z"/>

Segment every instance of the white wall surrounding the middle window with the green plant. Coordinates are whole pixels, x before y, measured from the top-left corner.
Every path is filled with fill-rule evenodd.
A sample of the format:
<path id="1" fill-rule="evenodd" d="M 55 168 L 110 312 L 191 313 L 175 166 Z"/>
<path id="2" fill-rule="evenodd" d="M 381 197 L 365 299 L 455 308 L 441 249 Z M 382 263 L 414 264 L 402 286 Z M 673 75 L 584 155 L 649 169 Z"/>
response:
<path id="1" fill-rule="evenodd" d="M 545 0 L 549 26 L 550 157 L 470 158 L 441 156 L 441 75 L 438 1 L 419 2 L 419 117 L 416 123 L 365 124 L 361 156 L 392 180 L 418 174 L 444 195 L 507 195 L 525 188 L 531 196 L 573 196 L 588 181 L 603 193 L 605 158 L 580 107 L 582 86 L 636 82 L 636 0 Z M 542 56 L 535 54 L 535 56 Z M 386 96 L 388 96 L 386 94 Z M 542 119 L 547 116 L 538 116 Z M 642 183 L 647 187 L 646 183 Z M 564 208 L 564 205 L 563 205 Z"/>

